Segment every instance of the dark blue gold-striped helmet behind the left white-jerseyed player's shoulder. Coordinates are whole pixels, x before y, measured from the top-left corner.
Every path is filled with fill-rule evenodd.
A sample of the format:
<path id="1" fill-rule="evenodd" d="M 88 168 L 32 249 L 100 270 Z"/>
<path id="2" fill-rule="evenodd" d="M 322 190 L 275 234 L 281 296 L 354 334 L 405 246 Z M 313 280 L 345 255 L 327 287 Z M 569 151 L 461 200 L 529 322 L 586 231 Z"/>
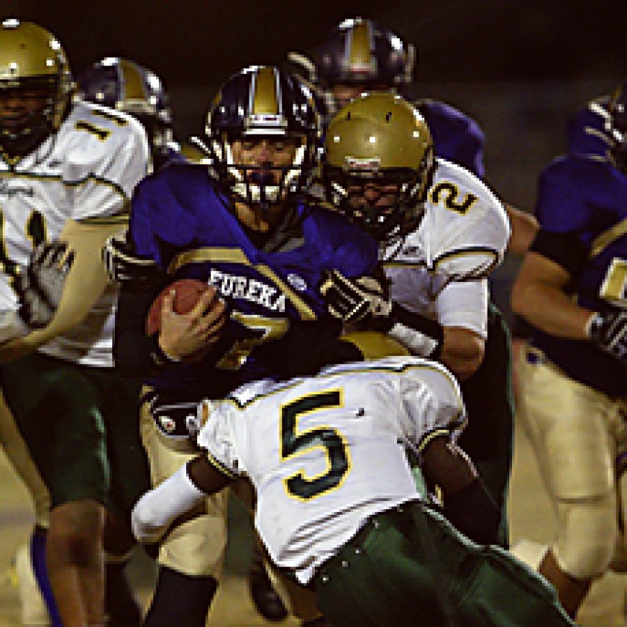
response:
<path id="1" fill-rule="evenodd" d="M 133 116 L 144 126 L 153 160 L 168 158 L 173 146 L 172 111 L 161 79 L 128 59 L 110 56 L 78 77 L 84 100 Z"/>

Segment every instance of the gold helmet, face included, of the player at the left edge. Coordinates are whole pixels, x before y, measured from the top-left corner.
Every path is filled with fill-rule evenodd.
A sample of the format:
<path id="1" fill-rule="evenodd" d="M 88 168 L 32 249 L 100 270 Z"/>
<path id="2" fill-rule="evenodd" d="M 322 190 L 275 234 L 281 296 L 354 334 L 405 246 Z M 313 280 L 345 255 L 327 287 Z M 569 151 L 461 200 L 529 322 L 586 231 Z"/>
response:
<path id="1" fill-rule="evenodd" d="M 72 75 L 58 40 L 37 24 L 4 20 L 0 27 L 0 148 L 26 155 L 59 129 L 72 94 Z"/>

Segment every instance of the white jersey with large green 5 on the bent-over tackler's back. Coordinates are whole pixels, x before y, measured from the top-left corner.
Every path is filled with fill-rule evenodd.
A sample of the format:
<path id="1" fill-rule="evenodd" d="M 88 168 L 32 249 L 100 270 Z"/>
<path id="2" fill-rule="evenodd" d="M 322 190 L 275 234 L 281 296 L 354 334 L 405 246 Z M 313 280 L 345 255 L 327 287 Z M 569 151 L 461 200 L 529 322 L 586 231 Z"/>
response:
<path id="1" fill-rule="evenodd" d="M 216 405 L 199 434 L 226 474 L 247 474 L 272 560 L 308 582 L 375 513 L 419 498 L 405 449 L 456 440 L 454 377 L 419 357 L 342 364 L 315 378 L 255 382 Z"/>

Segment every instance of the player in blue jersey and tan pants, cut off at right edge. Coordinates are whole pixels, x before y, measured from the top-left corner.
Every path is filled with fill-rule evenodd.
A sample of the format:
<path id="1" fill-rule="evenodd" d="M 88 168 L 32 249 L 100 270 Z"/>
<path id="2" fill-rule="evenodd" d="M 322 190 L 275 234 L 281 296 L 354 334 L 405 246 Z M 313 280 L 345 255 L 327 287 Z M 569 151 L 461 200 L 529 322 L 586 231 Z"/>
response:
<path id="1" fill-rule="evenodd" d="M 559 157 L 541 173 L 541 230 L 512 293 L 536 327 L 519 366 L 521 419 L 559 525 L 550 548 L 520 557 L 573 617 L 592 580 L 627 568 L 626 90 L 608 105 L 607 157 Z"/>

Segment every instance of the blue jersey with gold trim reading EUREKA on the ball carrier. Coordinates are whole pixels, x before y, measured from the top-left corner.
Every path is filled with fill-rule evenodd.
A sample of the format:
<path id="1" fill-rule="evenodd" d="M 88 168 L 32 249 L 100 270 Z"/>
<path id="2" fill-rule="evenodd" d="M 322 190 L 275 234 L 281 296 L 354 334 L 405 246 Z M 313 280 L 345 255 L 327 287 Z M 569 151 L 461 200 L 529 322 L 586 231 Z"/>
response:
<path id="1" fill-rule="evenodd" d="M 210 382 L 221 396 L 274 376 L 256 349 L 286 339 L 291 320 L 316 323 L 330 316 L 318 291 L 323 272 L 335 268 L 359 277 L 375 270 L 376 242 L 341 215 L 301 205 L 295 222 L 298 237 L 291 245 L 263 251 L 249 240 L 206 167 L 176 164 L 140 183 L 130 218 L 138 254 L 155 259 L 173 280 L 212 284 L 230 315 L 220 340 L 229 348 L 217 364 L 177 364 L 153 383 Z"/>

